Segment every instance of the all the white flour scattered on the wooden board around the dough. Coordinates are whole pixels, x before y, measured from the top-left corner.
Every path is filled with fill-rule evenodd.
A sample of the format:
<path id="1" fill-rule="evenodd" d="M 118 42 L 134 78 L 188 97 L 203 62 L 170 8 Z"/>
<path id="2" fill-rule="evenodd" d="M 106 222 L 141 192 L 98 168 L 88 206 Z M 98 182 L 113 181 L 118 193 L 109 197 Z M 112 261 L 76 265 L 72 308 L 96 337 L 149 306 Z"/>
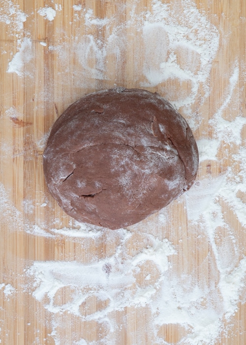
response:
<path id="1" fill-rule="evenodd" d="M 81 83 L 94 85 L 95 80 L 107 81 L 113 80 L 113 77 L 117 86 L 125 50 L 130 49 L 139 88 L 155 87 L 165 82 L 168 84 L 173 79 L 178 80 L 177 85 L 187 86 L 187 93 L 175 87 L 169 89 L 169 101 L 176 108 L 182 108 L 193 130 L 199 129 L 201 118 L 196 115 L 193 105 L 198 96 L 203 104 L 210 94 L 209 76 L 218 50 L 218 30 L 190 0 L 179 1 L 178 5 L 174 1 L 162 3 L 153 0 L 150 9 L 141 11 L 138 2 L 133 1 L 125 22 L 119 25 L 122 6 L 119 5 L 115 15 L 110 18 L 97 18 L 92 8 L 74 4 L 71 8 L 74 12 L 72 24 L 80 22 L 85 27 L 85 34 L 81 35 L 78 30 L 77 35 L 69 36 L 67 40 L 68 33 L 64 32 L 64 41 L 53 45 L 46 42 L 40 44 L 56 55 L 64 71 L 70 68 L 67 61 L 71 58 L 79 62 L 80 69 L 74 73 L 73 83 L 82 89 Z M 58 10 L 63 11 L 62 6 L 54 4 L 54 8 L 40 8 L 38 14 L 53 25 Z M 26 68 L 33 64 L 36 46 L 29 35 L 21 36 L 26 18 L 27 15 L 12 1 L 5 1 L 0 9 L 0 21 L 20 35 L 17 52 L 7 69 L 7 72 L 15 73 L 19 78 L 34 77 L 31 68 Z M 104 39 L 100 35 L 92 35 L 93 28 L 97 28 L 98 33 L 103 30 Z M 129 41 L 126 32 L 131 37 Z M 140 54 L 144 57 L 141 61 Z M 138 80 L 139 75 L 143 75 L 144 79 Z M 67 86 L 65 73 L 61 80 Z M 236 92 L 238 85 L 239 63 L 235 61 L 220 105 L 206 123 L 207 127 L 214 129 L 212 137 L 204 136 L 197 141 L 201 163 L 219 164 L 221 147 L 226 144 L 238 145 L 237 153 L 231 157 L 230 151 L 224 150 L 223 159 L 230 161 L 227 170 L 216 177 L 208 174 L 197 179 L 180 198 L 186 211 L 187 224 L 193 229 L 192 236 L 202 241 L 198 252 L 202 252 L 203 246 L 211 248 L 197 268 L 202 271 L 203 265 L 215 262 L 211 267 L 209 282 L 206 277 L 198 278 L 195 270 L 178 274 L 174 262 L 181 250 L 179 244 L 174 246 L 164 236 L 148 234 L 142 224 L 130 228 L 142 235 L 141 240 L 135 239 L 135 245 L 140 249 L 130 253 L 129 243 L 133 232 L 125 229 L 112 235 L 106 229 L 79 223 L 74 223 L 74 227 L 71 224 L 67 228 L 57 229 L 54 220 L 54 226 L 48 230 L 41 222 L 34 225 L 29 223 L 11 204 L 4 187 L 0 185 L 0 211 L 6 221 L 14 219 L 16 227 L 25 229 L 30 235 L 80 242 L 92 239 L 103 241 L 106 234 L 110 241 L 117 240 L 119 243 L 115 252 L 103 259 L 95 257 L 87 263 L 34 261 L 25 271 L 29 278 L 27 288 L 52 319 L 49 324 L 52 329 L 50 336 L 56 345 L 70 344 L 69 338 L 61 339 L 59 336 L 60 329 L 72 327 L 67 315 L 72 315 L 73 318 L 69 320 L 76 320 L 77 324 L 86 327 L 93 321 L 94 325 L 105 330 L 99 341 L 74 335 L 74 345 L 117 344 L 117 334 L 120 332 L 117 317 L 119 319 L 125 308 L 140 313 L 141 308 L 148 310 L 149 319 L 145 320 L 145 326 L 153 344 L 170 344 L 160 336 L 159 331 L 163 326 L 182 327 L 184 336 L 177 341 L 178 345 L 213 345 L 221 331 L 226 335 L 228 329 L 225 321 L 230 323 L 238 310 L 238 303 L 246 301 L 245 249 L 240 245 L 237 231 L 231 226 L 230 217 L 227 218 L 223 211 L 223 205 L 228 206 L 238 222 L 238 228 L 246 228 L 246 203 L 243 198 L 246 195 L 246 149 L 241 137 L 246 118 L 240 113 L 231 121 L 223 116 L 230 104 L 240 102 L 240 95 Z M 164 88 L 160 91 L 165 95 Z M 48 93 L 43 96 L 48 98 Z M 11 108 L 8 110 L 7 116 L 11 114 Z M 44 134 L 43 139 L 36 143 L 40 150 L 46 138 L 47 134 Z M 6 142 L 0 142 L 0 145 L 2 156 L 8 157 L 12 152 L 9 145 Z M 235 174 L 238 167 L 239 173 Z M 33 205 L 34 201 L 25 200 L 24 211 L 31 212 Z M 40 207 L 50 206 L 44 200 Z M 162 210 L 156 216 L 155 226 L 161 228 L 165 225 L 168 225 L 168 212 Z M 86 246 L 85 250 L 88 250 Z M 4 283 L 0 284 L 0 289 L 5 291 L 5 297 L 14 293 L 11 286 Z M 62 300 L 66 291 L 70 291 L 70 297 Z M 90 305 L 90 301 L 97 301 L 100 308 L 94 312 L 87 311 L 86 305 Z M 123 324 L 121 326 L 124 327 Z"/>

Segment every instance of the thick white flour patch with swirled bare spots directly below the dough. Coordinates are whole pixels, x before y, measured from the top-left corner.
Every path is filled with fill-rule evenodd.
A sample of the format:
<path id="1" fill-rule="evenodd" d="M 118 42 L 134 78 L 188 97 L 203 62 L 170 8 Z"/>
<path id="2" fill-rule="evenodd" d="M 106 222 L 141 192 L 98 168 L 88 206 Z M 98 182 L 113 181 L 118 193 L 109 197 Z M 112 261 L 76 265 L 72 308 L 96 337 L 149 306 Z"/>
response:
<path id="1" fill-rule="evenodd" d="M 149 304 L 151 297 L 159 289 L 164 273 L 170 267 L 168 257 L 176 254 L 176 251 L 168 240 L 160 241 L 148 235 L 153 246 L 144 248 L 133 257 L 127 256 L 123 259 L 125 244 L 132 235 L 123 230 L 121 232 L 122 242 L 116 253 L 104 260 L 87 265 L 74 261 L 34 262 L 28 272 L 35 281 L 33 296 L 38 301 L 48 297 L 49 303 L 45 308 L 52 313 L 69 311 L 78 316 L 82 316 L 81 304 L 92 294 L 102 301 L 109 300 L 109 304 L 104 310 L 96 311 L 88 315 L 86 319 L 99 318 L 101 322 L 105 319 L 110 323 L 111 329 L 114 328 L 114 325 L 108 319 L 108 314 L 112 311 L 120 311 L 131 305 L 145 306 Z M 135 286 L 135 275 L 139 272 L 139 267 L 146 261 L 153 261 L 156 269 L 160 270 L 160 274 L 152 284 L 141 288 Z M 74 298 L 69 303 L 57 306 L 54 297 L 60 289 L 66 286 L 70 286 L 76 291 Z M 87 289 L 88 292 L 86 292 Z"/>

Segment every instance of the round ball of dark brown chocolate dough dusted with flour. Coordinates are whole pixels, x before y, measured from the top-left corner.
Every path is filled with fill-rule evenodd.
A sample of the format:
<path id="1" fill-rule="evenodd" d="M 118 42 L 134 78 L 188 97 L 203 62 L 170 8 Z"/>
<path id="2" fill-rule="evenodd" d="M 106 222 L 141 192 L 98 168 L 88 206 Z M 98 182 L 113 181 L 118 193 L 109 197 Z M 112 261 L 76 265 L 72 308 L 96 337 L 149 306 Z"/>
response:
<path id="1" fill-rule="evenodd" d="M 156 93 L 85 96 L 55 122 L 43 154 L 48 188 L 80 222 L 135 224 L 194 182 L 198 150 L 184 118 Z"/>

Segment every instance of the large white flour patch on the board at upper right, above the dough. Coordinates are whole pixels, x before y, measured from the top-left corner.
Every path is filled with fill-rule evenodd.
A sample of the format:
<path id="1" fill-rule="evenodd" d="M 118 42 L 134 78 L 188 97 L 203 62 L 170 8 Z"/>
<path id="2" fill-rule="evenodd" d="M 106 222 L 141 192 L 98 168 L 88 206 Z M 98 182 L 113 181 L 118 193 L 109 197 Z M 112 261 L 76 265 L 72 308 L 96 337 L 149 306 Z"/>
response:
<path id="1" fill-rule="evenodd" d="M 179 102 L 182 106 L 194 102 L 199 83 L 203 83 L 206 90 L 205 83 L 218 49 L 217 29 L 192 1 L 182 1 L 179 15 L 175 16 L 172 3 L 154 0 L 153 11 L 147 12 L 145 16 L 144 71 L 150 85 L 157 85 L 169 78 L 190 81 L 192 99 L 189 95 L 179 99 Z M 153 41 L 158 42 L 157 54 L 153 54 Z"/>

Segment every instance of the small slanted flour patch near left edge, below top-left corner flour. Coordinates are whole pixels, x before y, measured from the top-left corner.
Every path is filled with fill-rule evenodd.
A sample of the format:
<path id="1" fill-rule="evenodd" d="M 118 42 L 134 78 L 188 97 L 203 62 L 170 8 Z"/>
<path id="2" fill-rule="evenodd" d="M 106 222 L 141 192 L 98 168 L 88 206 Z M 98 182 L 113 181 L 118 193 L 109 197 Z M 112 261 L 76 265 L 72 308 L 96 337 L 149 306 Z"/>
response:
<path id="1" fill-rule="evenodd" d="M 31 75 L 31 72 L 25 69 L 25 64 L 28 64 L 32 58 L 32 43 L 29 37 L 24 37 L 20 41 L 19 51 L 14 55 L 13 59 L 8 64 L 8 73 L 16 73 L 19 76 Z"/>

